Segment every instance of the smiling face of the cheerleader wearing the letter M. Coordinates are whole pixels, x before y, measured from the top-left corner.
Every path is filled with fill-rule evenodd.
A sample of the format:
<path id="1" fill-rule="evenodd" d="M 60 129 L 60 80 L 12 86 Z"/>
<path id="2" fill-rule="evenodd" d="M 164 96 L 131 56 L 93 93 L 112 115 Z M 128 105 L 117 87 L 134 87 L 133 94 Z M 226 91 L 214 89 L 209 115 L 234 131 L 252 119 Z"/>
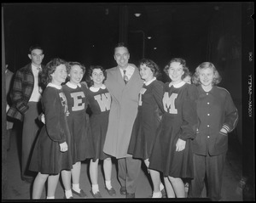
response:
<path id="1" fill-rule="evenodd" d="M 168 69 L 168 73 L 172 83 L 177 84 L 181 82 L 184 74 L 183 65 L 181 65 L 179 62 L 172 62 Z"/>

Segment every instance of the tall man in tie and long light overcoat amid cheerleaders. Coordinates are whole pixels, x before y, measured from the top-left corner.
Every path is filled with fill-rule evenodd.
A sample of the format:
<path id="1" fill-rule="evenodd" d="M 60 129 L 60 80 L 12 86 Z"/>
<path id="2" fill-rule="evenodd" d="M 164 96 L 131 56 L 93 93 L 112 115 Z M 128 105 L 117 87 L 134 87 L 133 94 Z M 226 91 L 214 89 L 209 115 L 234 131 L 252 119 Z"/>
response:
<path id="1" fill-rule="evenodd" d="M 134 198 L 141 161 L 127 154 L 133 123 L 137 116 L 138 93 L 143 80 L 135 65 L 128 64 L 130 54 L 124 43 L 114 48 L 117 66 L 107 70 L 105 82 L 112 96 L 108 132 L 103 151 L 118 159 L 120 194 Z"/>

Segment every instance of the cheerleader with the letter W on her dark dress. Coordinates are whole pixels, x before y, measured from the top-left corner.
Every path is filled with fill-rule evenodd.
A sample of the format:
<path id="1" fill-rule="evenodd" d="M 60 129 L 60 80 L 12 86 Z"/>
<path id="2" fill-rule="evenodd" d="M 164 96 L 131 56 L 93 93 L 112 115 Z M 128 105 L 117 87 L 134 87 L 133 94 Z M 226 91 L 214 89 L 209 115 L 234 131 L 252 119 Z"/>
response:
<path id="1" fill-rule="evenodd" d="M 112 161 L 111 156 L 103 152 L 106 133 L 108 129 L 108 115 L 111 104 L 111 96 L 103 84 L 106 72 L 100 65 L 91 66 L 89 70 L 90 88 L 87 91 L 89 107 L 91 110 L 90 127 L 92 132 L 95 156 L 90 160 L 90 180 L 92 183 L 91 195 L 101 198 L 98 186 L 98 164 L 103 160 L 103 171 L 105 175 L 105 189 L 108 195 L 116 195 L 111 184 Z"/>

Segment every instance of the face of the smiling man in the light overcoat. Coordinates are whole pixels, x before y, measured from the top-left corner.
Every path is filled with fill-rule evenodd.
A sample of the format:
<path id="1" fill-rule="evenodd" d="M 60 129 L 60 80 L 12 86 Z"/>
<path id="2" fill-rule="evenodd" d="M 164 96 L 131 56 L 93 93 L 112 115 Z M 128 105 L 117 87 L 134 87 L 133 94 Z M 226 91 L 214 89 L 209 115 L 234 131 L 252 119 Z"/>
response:
<path id="1" fill-rule="evenodd" d="M 113 58 L 120 68 L 126 68 L 130 59 L 130 54 L 127 48 L 115 48 Z"/>

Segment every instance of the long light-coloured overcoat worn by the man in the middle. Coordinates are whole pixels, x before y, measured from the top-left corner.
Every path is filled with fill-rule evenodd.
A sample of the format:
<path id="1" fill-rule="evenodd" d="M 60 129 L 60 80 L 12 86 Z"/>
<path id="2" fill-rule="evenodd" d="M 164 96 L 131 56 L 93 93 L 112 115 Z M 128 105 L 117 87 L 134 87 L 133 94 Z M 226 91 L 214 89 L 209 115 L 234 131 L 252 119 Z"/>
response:
<path id="1" fill-rule="evenodd" d="M 138 94 L 143 87 L 143 80 L 136 67 L 125 85 L 119 67 L 113 67 L 107 70 L 105 85 L 112 96 L 112 103 L 103 151 L 117 159 L 131 156 L 127 154 L 127 150 L 137 116 Z"/>

